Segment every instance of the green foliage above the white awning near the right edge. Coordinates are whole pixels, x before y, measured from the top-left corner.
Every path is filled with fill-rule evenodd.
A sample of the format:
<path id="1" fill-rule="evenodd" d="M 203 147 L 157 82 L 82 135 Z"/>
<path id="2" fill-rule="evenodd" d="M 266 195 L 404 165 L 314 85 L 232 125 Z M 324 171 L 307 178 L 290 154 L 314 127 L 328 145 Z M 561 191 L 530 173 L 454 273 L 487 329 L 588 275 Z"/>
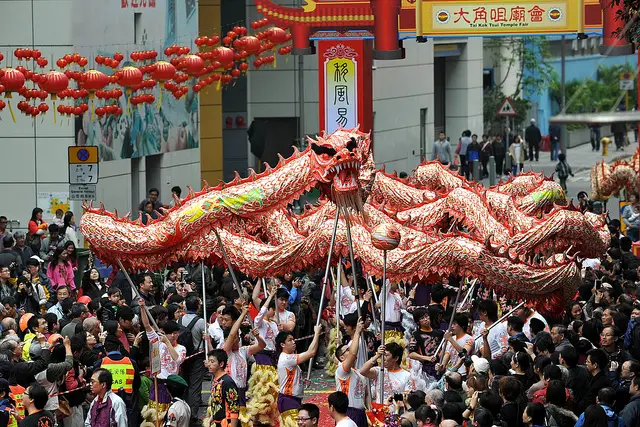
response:
<path id="1" fill-rule="evenodd" d="M 620 73 L 628 71 L 635 74 L 634 67 L 626 63 L 624 65 L 612 65 L 607 67 L 600 65 L 596 74 L 596 79 L 571 80 L 565 84 L 565 96 L 567 102 L 567 113 L 590 113 L 597 108 L 599 111 L 609 111 L 618 107 L 617 101 L 624 94 L 620 90 Z M 562 104 L 562 93 L 560 82 L 555 79 L 549 85 L 553 101 L 556 103 L 558 111 Z M 621 104 L 624 105 L 625 98 L 622 97 Z M 637 105 L 637 91 L 629 91 L 630 108 Z"/>

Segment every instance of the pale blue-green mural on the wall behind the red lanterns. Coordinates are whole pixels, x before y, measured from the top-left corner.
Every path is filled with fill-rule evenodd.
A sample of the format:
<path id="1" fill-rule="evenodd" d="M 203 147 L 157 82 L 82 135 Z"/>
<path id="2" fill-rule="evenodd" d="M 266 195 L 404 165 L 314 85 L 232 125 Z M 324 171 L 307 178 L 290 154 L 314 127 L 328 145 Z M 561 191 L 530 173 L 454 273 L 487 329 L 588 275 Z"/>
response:
<path id="1" fill-rule="evenodd" d="M 197 2 L 75 0 L 74 24 L 78 34 L 75 50 L 93 58 L 124 54 L 122 66 L 133 51 L 157 50 L 174 45 L 190 46 L 198 35 Z M 92 19 L 88 17 L 101 17 Z M 164 26 L 162 25 L 164 24 Z M 162 53 L 157 58 L 162 58 Z M 105 74 L 113 69 L 96 68 Z M 192 79 L 190 86 L 197 82 Z M 133 105 L 132 94 L 120 98 L 120 116 L 97 117 L 91 109 L 76 118 L 76 145 L 96 145 L 100 160 L 118 160 L 169 153 L 199 146 L 198 95 L 191 88 L 180 99 L 152 90 L 158 102 Z M 83 100 L 79 100 L 82 102 Z M 95 99 L 89 102 L 101 100 Z M 87 102 L 84 100 L 84 102 Z"/>

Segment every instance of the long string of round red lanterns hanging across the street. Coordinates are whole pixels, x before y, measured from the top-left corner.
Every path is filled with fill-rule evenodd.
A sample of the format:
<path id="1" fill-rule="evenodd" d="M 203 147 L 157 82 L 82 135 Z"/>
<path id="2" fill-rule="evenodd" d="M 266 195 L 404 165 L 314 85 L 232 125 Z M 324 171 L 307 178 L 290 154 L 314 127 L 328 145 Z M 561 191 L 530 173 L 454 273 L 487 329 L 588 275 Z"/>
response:
<path id="1" fill-rule="evenodd" d="M 226 35 L 199 36 L 194 40 L 197 47 L 192 52 L 188 46 L 173 45 L 164 49 L 166 60 L 159 59 L 160 53 L 155 50 L 134 51 L 128 54 L 133 63 L 120 67 L 125 55 L 116 52 L 111 57 L 97 55 L 93 61 L 79 53 L 68 53 L 51 64 L 49 71 L 38 72 L 49 66 L 49 61 L 42 56 L 38 49 L 17 48 L 13 51 L 15 59 L 20 65 L 15 68 L 0 68 L 0 94 L 4 93 L 7 101 L 0 100 L 0 111 L 9 107 L 11 117 L 15 122 L 15 115 L 11 107 L 14 94 L 21 99 L 16 106 L 18 111 L 26 116 L 37 117 L 49 111 L 47 99 L 53 102 L 55 114 L 65 116 L 80 115 L 91 109 L 98 117 L 105 115 L 123 114 L 119 99 L 127 96 L 127 110 L 129 105 L 153 104 L 156 95 L 152 93 L 156 86 L 158 90 L 158 108 L 162 103 L 162 93 L 169 91 L 174 98 L 180 99 L 189 93 L 200 92 L 205 87 L 216 84 L 220 90 L 222 86 L 232 84 L 249 71 L 249 62 L 256 69 L 267 65 L 276 65 L 276 56 L 291 53 L 291 45 L 283 44 L 291 40 L 291 34 L 279 27 L 270 27 L 258 31 L 269 24 L 267 19 L 260 19 L 251 23 L 251 28 L 257 31 L 250 35 L 246 27 L 235 26 Z M 253 57 L 253 61 L 251 61 Z M 0 62 L 4 55 L 0 53 Z M 90 62 L 96 66 L 110 68 L 111 75 L 90 67 Z M 34 69 L 29 69 L 30 63 Z M 24 65 L 23 65 L 24 64 Z M 53 67 L 57 67 L 54 69 Z M 191 80 L 190 83 L 187 83 Z M 29 83 L 30 82 L 30 83 Z M 77 86 L 73 88 L 72 86 Z M 91 106 L 86 99 L 90 99 Z M 94 108 L 94 99 L 103 104 Z M 59 104 L 72 99 L 73 105 Z"/>

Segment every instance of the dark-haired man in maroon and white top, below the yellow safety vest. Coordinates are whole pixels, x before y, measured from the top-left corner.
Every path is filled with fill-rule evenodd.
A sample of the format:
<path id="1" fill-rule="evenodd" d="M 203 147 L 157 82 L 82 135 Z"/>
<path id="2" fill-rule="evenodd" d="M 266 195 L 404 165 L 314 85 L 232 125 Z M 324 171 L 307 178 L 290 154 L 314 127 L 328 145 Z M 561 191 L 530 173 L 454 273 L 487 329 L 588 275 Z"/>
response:
<path id="1" fill-rule="evenodd" d="M 113 377 L 106 369 L 98 369 L 91 375 L 91 393 L 96 397 L 91 402 L 84 427 L 127 427 L 127 408 L 112 389 Z M 132 424 L 133 425 L 133 424 Z"/>

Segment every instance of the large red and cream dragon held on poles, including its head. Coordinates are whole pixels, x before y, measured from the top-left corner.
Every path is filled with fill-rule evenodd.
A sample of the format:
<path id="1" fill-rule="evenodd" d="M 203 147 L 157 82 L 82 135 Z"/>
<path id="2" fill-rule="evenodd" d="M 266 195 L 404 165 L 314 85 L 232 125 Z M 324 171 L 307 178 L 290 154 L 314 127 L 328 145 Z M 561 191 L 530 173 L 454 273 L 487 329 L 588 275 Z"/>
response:
<path id="1" fill-rule="evenodd" d="M 308 142 L 274 169 L 190 191 L 146 225 L 87 206 L 81 231 L 102 261 L 134 269 L 175 260 L 222 263 L 217 232 L 234 267 L 270 277 L 322 266 L 340 207 L 351 212 L 355 255 L 369 274 L 383 270 L 371 231 L 387 223 L 402 236 L 388 253 L 390 278 L 432 281 L 457 274 L 531 298 L 572 296 L 580 284 L 578 253 L 606 251 L 604 218 L 568 205 L 562 189 L 541 174 L 484 188 L 429 162 L 399 179 L 375 170 L 369 136 L 357 129 Z M 302 215 L 286 209 L 314 187 L 323 193 L 317 206 Z M 347 242 L 341 217 L 336 258 L 348 256 Z"/>

